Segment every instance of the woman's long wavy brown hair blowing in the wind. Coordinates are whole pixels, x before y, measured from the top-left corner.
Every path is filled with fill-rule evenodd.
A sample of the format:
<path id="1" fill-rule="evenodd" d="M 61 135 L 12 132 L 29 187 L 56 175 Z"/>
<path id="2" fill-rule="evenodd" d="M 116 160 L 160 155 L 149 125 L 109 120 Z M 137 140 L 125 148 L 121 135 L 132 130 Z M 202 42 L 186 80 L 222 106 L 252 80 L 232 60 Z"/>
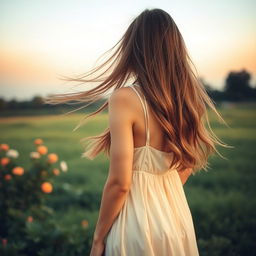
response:
<path id="1" fill-rule="evenodd" d="M 104 99 L 110 89 L 116 90 L 124 87 L 128 81 L 133 81 L 141 86 L 147 103 L 164 130 L 166 143 L 173 152 L 170 167 L 176 165 L 177 170 L 193 168 L 195 173 L 200 169 L 208 169 L 208 156 L 212 153 L 217 152 L 223 157 L 216 145 L 229 146 L 212 131 L 207 107 L 215 112 L 219 120 L 225 121 L 198 78 L 183 37 L 172 17 L 161 9 L 145 9 L 134 18 L 124 35 L 110 50 L 115 47 L 117 49 L 114 53 L 90 72 L 73 78 L 64 77 L 67 81 L 99 82 L 97 86 L 81 92 L 50 95 L 45 102 L 89 102 L 83 108 Z M 88 78 L 96 75 L 107 64 L 109 67 L 99 75 Z M 110 74 L 107 75 L 107 72 Z M 108 99 L 83 120 L 98 114 L 107 106 Z M 76 110 L 79 109 L 81 107 Z M 75 129 L 81 124 L 82 122 Z M 102 134 L 83 138 L 82 141 L 90 142 L 82 157 L 93 159 L 101 151 L 109 156 L 109 127 Z"/>

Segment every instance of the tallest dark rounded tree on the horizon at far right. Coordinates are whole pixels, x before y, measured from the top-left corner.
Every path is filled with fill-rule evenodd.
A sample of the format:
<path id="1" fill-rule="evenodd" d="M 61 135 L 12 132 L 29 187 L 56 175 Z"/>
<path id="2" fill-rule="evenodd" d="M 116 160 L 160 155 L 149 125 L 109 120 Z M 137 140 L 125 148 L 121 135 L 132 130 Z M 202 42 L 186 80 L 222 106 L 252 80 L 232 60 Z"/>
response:
<path id="1" fill-rule="evenodd" d="M 251 74 L 244 69 L 230 72 L 224 87 L 226 98 L 232 101 L 255 99 L 255 90 L 250 85 L 250 80 Z"/>

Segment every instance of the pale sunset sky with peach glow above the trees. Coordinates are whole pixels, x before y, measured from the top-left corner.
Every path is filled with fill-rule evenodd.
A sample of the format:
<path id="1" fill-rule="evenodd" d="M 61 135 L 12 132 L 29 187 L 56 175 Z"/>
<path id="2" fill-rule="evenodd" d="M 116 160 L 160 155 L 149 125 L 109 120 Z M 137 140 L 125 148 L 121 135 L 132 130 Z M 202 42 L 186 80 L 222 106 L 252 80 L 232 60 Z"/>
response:
<path id="1" fill-rule="evenodd" d="M 59 76 L 95 67 L 146 8 L 173 17 L 199 75 L 212 87 L 222 89 L 228 73 L 241 69 L 256 85 L 254 0 L 1 0 L 0 97 L 70 92 Z"/>

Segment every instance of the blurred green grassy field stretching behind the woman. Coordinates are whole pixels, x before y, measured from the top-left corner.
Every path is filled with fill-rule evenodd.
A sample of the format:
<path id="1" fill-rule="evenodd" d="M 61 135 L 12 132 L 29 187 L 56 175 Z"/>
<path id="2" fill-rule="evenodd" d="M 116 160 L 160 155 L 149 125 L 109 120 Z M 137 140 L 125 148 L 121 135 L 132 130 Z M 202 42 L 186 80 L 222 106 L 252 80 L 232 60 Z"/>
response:
<path id="1" fill-rule="evenodd" d="M 256 252 L 256 111 L 253 106 L 219 109 L 230 127 L 211 114 L 216 134 L 232 149 L 219 148 L 227 160 L 210 158 L 211 170 L 191 176 L 184 186 L 194 219 L 200 255 L 255 255 Z M 94 161 L 81 158 L 81 138 L 107 127 L 101 114 L 76 131 L 83 115 L 42 115 L 0 118 L 1 142 L 20 152 L 19 161 L 29 168 L 33 140 L 41 138 L 50 152 L 67 161 L 69 171 L 56 179 L 48 204 L 56 221 L 67 228 L 89 221 L 92 234 L 98 216 L 108 160 L 100 154 Z M 61 191 L 61 193 L 60 193 Z M 70 192 L 70 193 L 69 193 Z M 72 193 L 71 193 L 72 192 Z"/>

